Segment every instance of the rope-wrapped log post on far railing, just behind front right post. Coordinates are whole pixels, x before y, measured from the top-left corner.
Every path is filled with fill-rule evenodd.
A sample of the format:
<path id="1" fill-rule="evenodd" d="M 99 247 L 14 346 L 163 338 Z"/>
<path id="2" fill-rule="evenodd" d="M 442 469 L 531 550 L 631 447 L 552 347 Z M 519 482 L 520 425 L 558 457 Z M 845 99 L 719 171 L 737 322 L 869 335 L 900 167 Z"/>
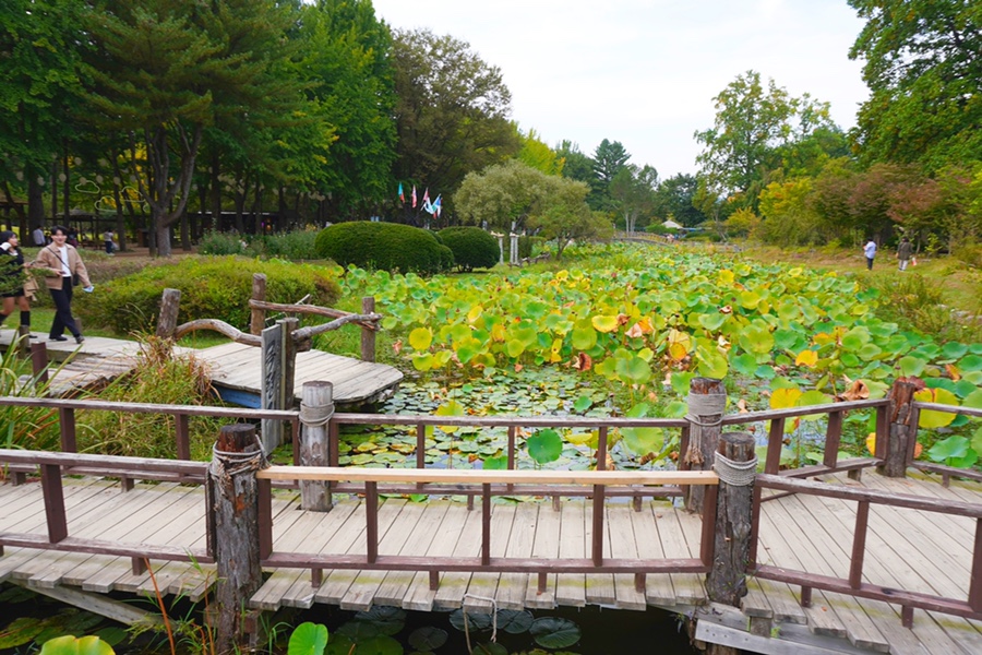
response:
<path id="1" fill-rule="evenodd" d="M 719 442 L 720 421 L 727 408 L 727 389 L 722 380 L 693 378 L 688 383 L 688 448 L 682 453 L 682 465 L 687 471 L 709 471 Z M 706 490 L 700 485 L 688 485 L 683 490 L 685 509 L 699 512 Z"/>

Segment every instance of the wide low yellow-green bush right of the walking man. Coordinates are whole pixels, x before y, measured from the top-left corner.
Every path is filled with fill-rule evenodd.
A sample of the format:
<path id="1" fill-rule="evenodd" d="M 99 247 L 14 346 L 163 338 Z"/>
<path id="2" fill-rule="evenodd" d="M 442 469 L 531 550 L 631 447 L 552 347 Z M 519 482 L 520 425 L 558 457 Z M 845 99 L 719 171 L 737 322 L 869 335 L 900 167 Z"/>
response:
<path id="1" fill-rule="evenodd" d="M 77 312 L 86 325 L 118 334 L 151 331 L 160 310 L 165 288 L 181 291 L 179 322 L 220 319 L 240 330 L 249 325 L 252 274 L 266 275 L 266 299 L 296 302 L 310 296 L 311 305 L 332 306 L 340 296 L 327 269 L 283 260 L 207 257 L 154 266 L 115 279 L 86 297 Z"/>

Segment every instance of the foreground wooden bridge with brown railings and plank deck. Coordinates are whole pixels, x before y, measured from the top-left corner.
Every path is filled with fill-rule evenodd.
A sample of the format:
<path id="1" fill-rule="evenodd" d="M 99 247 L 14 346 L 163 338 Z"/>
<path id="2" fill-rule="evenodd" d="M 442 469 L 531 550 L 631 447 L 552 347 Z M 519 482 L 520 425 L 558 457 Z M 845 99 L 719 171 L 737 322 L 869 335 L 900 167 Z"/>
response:
<path id="1" fill-rule="evenodd" d="M 882 401 L 718 416 L 717 430 L 769 424 L 764 473 L 752 475 L 750 487 L 695 466 L 603 471 L 609 430 L 678 429 L 684 455 L 697 442 L 704 448 L 710 436 L 714 421 L 706 419 L 712 417 L 702 415 L 335 414 L 327 426 L 328 466 L 265 467 L 261 452 L 246 449 L 229 454 L 223 466 L 213 463 L 209 473 L 206 463 L 73 453 L 73 413 L 294 421 L 298 413 L 0 398 L 0 406 L 57 409 L 63 436 L 61 453 L 0 451 L 0 462 L 10 466 L 9 480 L 0 485 L 0 580 L 52 594 L 158 588 L 201 597 L 220 577 L 219 544 L 229 541 L 216 538 L 212 503 L 199 488 L 204 483 L 214 498 L 217 469 L 255 485 L 256 532 L 247 540 L 254 541 L 266 571 L 249 592 L 255 610 L 314 603 L 351 609 L 464 606 L 476 612 L 657 606 L 694 620 L 698 640 L 758 653 L 980 653 L 982 487 L 977 475 L 912 462 L 910 455 L 920 409 L 975 417 L 982 412 L 917 403 L 903 389 L 895 392 Z M 876 456 L 836 460 L 849 410 L 877 414 Z M 823 464 L 779 471 L 785 421 L 815 414 L 828 416 Z M 339 426 L 378 424 L 417 427 L 417 467 L 337 467 Z M 508 469 L 426 468 L 427 427 L 447 425 L 506 427 Z M 518 429 L 552 426 L 596 429 L 600 471 L 520 469 Z M 188 450 L 181 439 L 179 430 L 176 453 Z M 256 465 L 243 473 L 247 460 Z M 27 475 L 35 468 L 39 484 Z M 121 480 L 125 492 L 111 479 Z M 331 511 L 300 509 L 306 491 L 298 484 L 322 485 Z M 744 492 L 752 501 L 742 516 L 731 495 Z M 414 500 L 420 496 L 429 500 Z M 694 496 L 703 499 L 695 508 L 700 513 L 682 507 L 683 498 L 691 502 Z M 731 504 L 720 505 L 726 498 Z M 745 565 L 735 572 L 747 593 L 739 608 L 730 607 L 712 597 L 712 576 L 728 568 L 727 545 L 744 538 Z"/>

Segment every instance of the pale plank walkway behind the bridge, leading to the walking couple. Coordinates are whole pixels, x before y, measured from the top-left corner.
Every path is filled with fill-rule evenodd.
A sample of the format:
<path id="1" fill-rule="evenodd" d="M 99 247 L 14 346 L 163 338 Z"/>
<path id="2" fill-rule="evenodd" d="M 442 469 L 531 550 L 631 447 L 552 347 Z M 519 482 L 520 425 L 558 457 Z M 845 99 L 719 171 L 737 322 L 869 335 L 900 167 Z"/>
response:
<path id="1" fill-rule="evenodd" d="M 64 362 L 51 369 L 50 395 L 65 396 L 80 389 L 97 388 L 111 382 L 136 366 L 140 344 L 133 341 L 87 336 L 81 345 L 74 340 L 47 341 L 47 334 L 35 332 L 31 343 L 45 342 L 48 357 Z M 14 333 L 0 332 L 0 347 L 8 347 Z M 205 361 L 212 381 L 226 402 L 260 406 L 262 384 L 261 349 L 237 343 L 209 348 L 178 348 Z M 55 365 L 58 366 L 58 365 Z M 334 402 L 339 407 L 358 407 L 391 397 L 403 380 L 403 373 L 391 366 L 361 361 L 321 350 L 297 354 L 296 400 L 299 404 L 304 382 L 326 380 L 334 384 Z"/>

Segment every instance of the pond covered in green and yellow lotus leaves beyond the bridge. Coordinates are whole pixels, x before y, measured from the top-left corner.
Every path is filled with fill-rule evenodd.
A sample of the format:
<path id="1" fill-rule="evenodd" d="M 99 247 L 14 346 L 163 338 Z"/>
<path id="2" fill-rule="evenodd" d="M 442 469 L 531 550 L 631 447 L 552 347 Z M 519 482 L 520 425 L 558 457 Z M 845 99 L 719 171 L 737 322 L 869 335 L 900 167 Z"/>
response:
<path id="1" fill-rule="evenodd" d="M 982 407 L 982 344 L 938 343 L 877 309 L 889 299 L 852 275 L 761 265 L 726 253 L 637 245 L 591 247 L 538 271 L 422 278 L 337 269 L 345 297 L 372 295 L 409 380 L 381 412 L 679 417 L 695 376 L 726 380 L 729 412 L 883 397 L 898 377 L 919 400 Z M 925 456 L 973 466 L 978 421 L 925 412 Z M 850 415 L 846 445 L 865 448 L 872 415 Z M 806 463 L 824 426 L 788 421 L 785 460 Z M 761 431 L 763 432 L 763 431 Z M 762 434 L 763 436 L 763 434 Z M 436 466 L 502 466 L 504 430 L 428 433 Z M 522 466 L 590 466 L 596 434 L 520 437 Z M 678 436 L 622 430 L 619 467 L 667 465 Z M 343 437 L 342 462 L 411 466 L 412 428 Z"/>

